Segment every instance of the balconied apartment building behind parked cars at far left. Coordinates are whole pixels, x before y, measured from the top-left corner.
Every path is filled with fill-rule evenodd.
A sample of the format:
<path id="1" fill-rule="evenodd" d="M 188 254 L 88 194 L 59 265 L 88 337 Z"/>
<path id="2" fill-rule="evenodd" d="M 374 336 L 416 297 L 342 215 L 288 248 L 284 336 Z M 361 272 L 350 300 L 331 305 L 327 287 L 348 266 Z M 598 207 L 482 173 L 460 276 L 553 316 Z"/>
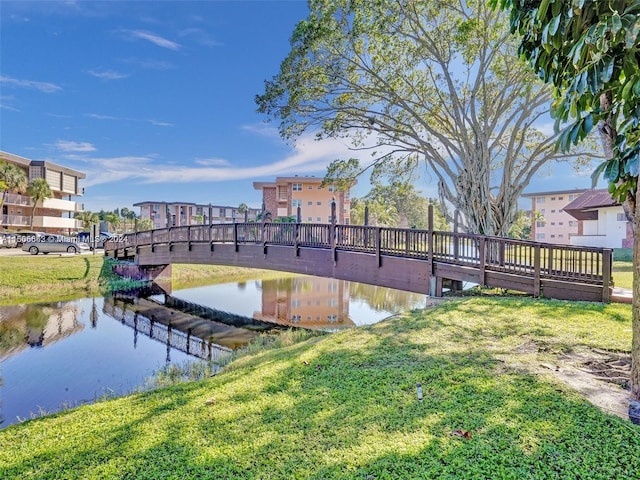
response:
<path id="1" fill-rule="evenodd" d="M 63 167 L 44 160 L 28 158 L 0 151 L 0 160 L 16 165 L 31 181 L 34 178 L 46 179 L 53 197 L 42 201 L 33 215 L 34 230 L 47 233 L 70 233 L 80 228 L 81 223 L 74 218 L 83 210 L 82 204 L 75 198 L 83 194 L 80 180 L 86 175 L 77 170 Z M 0 229 L 22 230 L 31 226 L 33 203 L 31 197 L 22 192 L 6 192 L 2 204 Z"/>

